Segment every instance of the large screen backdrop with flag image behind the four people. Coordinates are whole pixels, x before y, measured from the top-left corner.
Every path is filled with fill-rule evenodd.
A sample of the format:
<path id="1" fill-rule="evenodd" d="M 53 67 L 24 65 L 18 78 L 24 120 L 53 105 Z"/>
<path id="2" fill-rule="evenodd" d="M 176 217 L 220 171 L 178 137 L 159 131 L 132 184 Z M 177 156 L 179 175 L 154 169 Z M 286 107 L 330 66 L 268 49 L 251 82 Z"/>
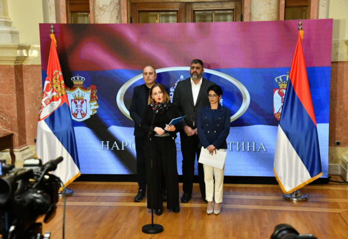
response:
<path id="1" fill-rule="evenodd" d="M 303 50 L 318 125 L 323 177 L 328 177 L 332 19 L 303 20 Z M 50 24 L 40 24 L 46 76 Z M 57 50 L 74 119 L 82 174 L 135 174 L 133 88 L 142 69 L 173 96 L 201 59 L 203 77 L 219 84 L 231 110 L 225 175 L 274 176 L 273 157 L 298 21 L 54 24 Z M 181 174 L 179 135 L 177 166 Z"/>

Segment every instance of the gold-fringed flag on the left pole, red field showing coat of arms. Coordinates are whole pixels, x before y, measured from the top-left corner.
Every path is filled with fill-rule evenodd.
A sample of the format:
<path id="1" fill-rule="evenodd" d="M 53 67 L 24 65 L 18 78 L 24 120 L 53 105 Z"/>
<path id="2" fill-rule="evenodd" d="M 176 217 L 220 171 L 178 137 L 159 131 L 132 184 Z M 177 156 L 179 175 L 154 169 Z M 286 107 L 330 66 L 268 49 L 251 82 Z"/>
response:
<path id="1" fill-rule="evenodd" d="M 36 156 L 43 163 L 62 156 L 63 161 L 51 173 L 67 186 L 81 173 L 73 120 L 55 42 L 55 36 L 51 34 L 47 75 L 37 123 Z"/>

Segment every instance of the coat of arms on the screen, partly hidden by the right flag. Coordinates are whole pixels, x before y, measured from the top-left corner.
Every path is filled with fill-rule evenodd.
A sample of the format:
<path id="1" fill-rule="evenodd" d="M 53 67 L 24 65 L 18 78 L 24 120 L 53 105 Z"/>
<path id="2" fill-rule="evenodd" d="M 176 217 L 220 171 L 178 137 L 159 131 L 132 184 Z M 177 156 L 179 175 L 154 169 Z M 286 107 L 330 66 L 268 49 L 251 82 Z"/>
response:
<path id="1" fill-rule="evenodd" d="M 283 78 L 285 78 L 286 80 L 283 80 Z M 273 115 L 277 120 L 280 119 L 288 80 L 289 72 L 287 72 L 286 75 L 275 78 L 275 82 L 277 82 L 279 88 L 273 88 Z"/>

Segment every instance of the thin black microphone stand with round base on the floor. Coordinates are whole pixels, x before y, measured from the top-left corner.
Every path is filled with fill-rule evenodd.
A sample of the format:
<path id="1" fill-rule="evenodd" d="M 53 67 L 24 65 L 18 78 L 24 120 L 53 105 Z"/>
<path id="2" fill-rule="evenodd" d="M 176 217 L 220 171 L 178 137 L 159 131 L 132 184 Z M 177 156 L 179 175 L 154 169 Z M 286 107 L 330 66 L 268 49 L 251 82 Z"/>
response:
<path id="1" fill-rule="evenodd" d="M 160 224 L 154 224 L 154 179 L 153 179 L 153 160 L 152 160 L 152 137 L 150 137 L 151 135 L 151 130 L 154 124 L 154 120 L 155 120 L 155 115 L 156 112 L 154 112 L 154 117 L 152 118 L 152 122 L 151 122 L 151 127 L 150 127 L 150 131 L 149 131 L 149 136 L 148 136 L 148 140 L 150 141 L 149 143 L 149 158 L 150 158 L 150 183 L 151 183 L 151 224 L 147 224 L 144 225 L 142 228 L 142 232 L 146 233 L 146 234 L 158 234 L 158 233 L 162 233 L 163 232 L 163 226 Z"/>

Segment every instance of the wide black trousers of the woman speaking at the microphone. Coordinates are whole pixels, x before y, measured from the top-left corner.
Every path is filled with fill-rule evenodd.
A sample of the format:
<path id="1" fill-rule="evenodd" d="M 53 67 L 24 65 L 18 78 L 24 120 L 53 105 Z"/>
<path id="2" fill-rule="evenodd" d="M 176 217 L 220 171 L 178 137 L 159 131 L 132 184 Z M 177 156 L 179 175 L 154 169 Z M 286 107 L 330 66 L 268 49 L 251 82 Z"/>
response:
<path id="1" fill-rule="evenodd" d="M 154 209 L 163 208 L 162 188 L 164 181 L 167 187 L 167 208 L 175 209 L 179 207 L 179 181 L 176 163 L 175 139 L 171 136 L 156 137 L 152 136 L 149 141 L 145 139 L 146 172 L 147 172 L 147 207 L 151 208 L 153 200 Z M 152 162 L 152 163 L 151 163 Z M 151 165 L 153 185 L 151 185 Z M 153 190 L 153 198 L 152 191 Z"/>

